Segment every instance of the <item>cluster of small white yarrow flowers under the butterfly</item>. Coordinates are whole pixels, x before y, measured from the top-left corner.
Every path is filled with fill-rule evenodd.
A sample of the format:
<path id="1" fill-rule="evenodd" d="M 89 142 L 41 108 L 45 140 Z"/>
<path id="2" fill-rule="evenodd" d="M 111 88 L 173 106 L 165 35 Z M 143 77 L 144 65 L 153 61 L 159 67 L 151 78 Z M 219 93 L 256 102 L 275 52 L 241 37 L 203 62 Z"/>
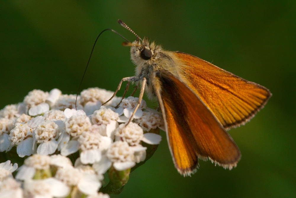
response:
<path id="1" fill-rule="evenodd" d="M 0 152 L 16 147 L 19 157 L 29 156 L 15 179 L 17 164 L 0 163 L 0 197 L 67 197 L 73 192 L 109 197 L 98 193 L 102 174 L 144 161 L 147 148 L 141 142 L 160 143 L 161 136 L 149 131 L 163 127 L 159 112 L 144 100 L 127 123 L 138 98 L 124 99 L 117 109 L 118 97 L 102 106 L 112 95 L 99 88 L 84 90 L 75 110 L 75 95 L 33 90 L 22 103 L 0 110 Z M 79 157 L 73 166 L 67 156 L 74 153 Z"/>

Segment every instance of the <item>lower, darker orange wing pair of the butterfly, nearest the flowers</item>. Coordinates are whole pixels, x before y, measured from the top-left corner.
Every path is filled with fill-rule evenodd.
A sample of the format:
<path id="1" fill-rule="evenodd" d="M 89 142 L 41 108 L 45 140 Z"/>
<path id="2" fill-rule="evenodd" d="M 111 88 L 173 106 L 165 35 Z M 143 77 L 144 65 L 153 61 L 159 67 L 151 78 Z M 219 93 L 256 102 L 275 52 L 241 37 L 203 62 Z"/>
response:
<path id="1" fill-rule="evenodd" d="M 223 126 L 200 98 L 167 71 L 153 80 L 165 120 L 170 151 L 177 170 L 193 173 L 197 158 L 210 158 L 223 167 L 236 166 L 241 155 Z"/>

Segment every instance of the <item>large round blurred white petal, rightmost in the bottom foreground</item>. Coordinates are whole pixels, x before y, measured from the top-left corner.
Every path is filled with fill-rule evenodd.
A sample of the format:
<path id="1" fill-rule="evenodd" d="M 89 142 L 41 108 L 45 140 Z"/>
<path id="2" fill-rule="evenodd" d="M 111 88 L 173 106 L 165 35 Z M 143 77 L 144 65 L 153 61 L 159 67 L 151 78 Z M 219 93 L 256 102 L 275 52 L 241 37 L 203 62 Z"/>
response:
<path id="1" fill-rule="evenodd" d="M 94 174 L 84 174 L 85 176 L 79 181 L 77 187 L 84 194 L 95 194 L 102 186 L 101 182 Z"/>

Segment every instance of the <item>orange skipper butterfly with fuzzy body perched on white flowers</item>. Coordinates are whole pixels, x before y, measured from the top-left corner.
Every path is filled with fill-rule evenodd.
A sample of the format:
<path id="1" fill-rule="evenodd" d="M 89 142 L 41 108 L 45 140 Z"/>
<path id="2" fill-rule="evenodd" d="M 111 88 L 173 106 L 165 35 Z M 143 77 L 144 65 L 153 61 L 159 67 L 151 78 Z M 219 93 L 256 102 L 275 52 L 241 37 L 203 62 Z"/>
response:
<path id="1" fill-rule="evenodd" d="M 193 55 L 165 51 L 137 37 L 124 43 L 131 47 L 136 75 L 123 78 L 114 96 L 128 81 L 141 84 L 139 104 L 144 90 L 158 99 L 173 162 L 182 175 L 196 171 L 198 158 L 236 167 L 241 154 L 226 130 L 255 116 L 270 91 Z"/>

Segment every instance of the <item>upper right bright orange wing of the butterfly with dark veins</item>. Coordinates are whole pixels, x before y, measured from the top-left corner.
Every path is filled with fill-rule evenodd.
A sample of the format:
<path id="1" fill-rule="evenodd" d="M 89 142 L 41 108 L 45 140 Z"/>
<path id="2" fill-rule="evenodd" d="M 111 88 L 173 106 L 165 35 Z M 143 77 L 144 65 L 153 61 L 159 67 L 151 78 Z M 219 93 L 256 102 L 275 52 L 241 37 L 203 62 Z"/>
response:
<path id="1" fill-rule="evenodd" d="M 226 129 L 249 121 L 271 97 L 265 87 L 247 81 L 198 57 L 174 52 L 184 64 L 188 86 Z"/>

